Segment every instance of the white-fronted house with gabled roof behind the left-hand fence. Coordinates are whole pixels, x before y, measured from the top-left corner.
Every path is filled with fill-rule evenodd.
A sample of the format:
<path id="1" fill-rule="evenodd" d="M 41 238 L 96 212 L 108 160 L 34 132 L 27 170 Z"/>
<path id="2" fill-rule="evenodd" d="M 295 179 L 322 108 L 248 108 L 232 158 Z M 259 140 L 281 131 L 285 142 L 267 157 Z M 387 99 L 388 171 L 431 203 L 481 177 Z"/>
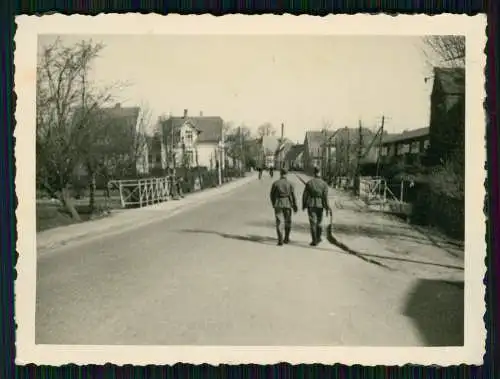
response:
<path id="1" fill-rule="evenodd" d="M 170 167 L 215 168 L 224 162 L 223 120 L 219 116 L 190 116 L 187 109 L 182 117 L 170 116 L 161 121 L 163 141 L 169 151 Z M 222 163 L 223 164 L 223 163 Z"/>

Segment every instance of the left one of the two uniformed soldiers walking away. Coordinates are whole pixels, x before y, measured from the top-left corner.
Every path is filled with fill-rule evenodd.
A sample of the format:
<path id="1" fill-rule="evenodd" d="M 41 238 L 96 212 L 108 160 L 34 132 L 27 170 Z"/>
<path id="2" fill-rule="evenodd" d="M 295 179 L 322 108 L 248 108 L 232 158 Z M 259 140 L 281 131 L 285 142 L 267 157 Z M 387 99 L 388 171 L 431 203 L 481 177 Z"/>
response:
<path id="1" fill-rule="evenodd" d="M 297 213 L 297 200 L 293 184 L 286 178 L 286 169 L 280 170 L 280 179 L 271 186 L 271 204 L 274 208 L 276 219 L 276 233 L 278 235 L 278 246 L 290 242 L 290 231 L 292 229 L 292 210 Z"/>

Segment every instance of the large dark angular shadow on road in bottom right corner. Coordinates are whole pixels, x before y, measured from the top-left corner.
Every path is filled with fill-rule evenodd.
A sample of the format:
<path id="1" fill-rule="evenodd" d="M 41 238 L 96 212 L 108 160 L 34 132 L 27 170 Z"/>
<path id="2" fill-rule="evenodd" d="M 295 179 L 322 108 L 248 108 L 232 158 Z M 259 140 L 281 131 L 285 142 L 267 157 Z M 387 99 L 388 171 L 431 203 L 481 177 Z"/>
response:
<path id="1" fill-rule="evenodd" d="M 408 294 L 404 315 L 427 346 L 464 345 L 464 282 L 419 279 Z"/>

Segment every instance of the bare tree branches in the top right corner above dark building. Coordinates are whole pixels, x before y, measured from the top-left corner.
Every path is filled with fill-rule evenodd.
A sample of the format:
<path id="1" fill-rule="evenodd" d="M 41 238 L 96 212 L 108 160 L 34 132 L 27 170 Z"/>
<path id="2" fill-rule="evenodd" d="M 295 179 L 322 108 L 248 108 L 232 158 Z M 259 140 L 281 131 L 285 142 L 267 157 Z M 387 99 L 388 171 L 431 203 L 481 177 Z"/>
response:
<path id="1" fill-rule="evenodd" d="M 424 54 L 432 66 L 465 67 L 465 36 L 426 36 L 423 43 Z"/>

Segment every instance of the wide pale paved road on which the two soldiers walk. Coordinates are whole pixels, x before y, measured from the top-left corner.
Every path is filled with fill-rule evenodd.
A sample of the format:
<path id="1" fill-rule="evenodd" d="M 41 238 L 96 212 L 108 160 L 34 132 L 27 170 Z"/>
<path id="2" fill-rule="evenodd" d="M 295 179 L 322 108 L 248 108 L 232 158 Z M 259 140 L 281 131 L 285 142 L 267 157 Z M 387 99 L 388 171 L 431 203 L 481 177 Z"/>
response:
<path id="1" fill-rule="evenodd" d="M 270 183 L 40 256 L 36 343 L 462 344 L 459 289 L 310 248 L 303 213 L 276 246 Z"/>

